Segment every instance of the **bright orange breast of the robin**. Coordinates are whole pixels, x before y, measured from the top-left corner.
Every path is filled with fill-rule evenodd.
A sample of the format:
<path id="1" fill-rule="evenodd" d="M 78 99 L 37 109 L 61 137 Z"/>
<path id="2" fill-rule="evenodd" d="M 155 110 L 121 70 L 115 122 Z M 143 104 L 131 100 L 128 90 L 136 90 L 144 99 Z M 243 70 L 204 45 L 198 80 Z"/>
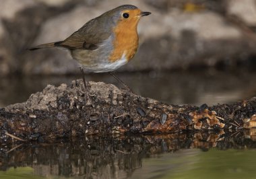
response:
<path id="1" fill-rule="evenodd" d="M 113 29 L 115 38 L 113 40 L 113 52 L 109 57 L 109 61 L 115 62 L 122 58 L 125 53 L 127 61 L 129 61 L 138 47 L 137 23 L 139 18 L 131 18 L 117 24 Z"/>

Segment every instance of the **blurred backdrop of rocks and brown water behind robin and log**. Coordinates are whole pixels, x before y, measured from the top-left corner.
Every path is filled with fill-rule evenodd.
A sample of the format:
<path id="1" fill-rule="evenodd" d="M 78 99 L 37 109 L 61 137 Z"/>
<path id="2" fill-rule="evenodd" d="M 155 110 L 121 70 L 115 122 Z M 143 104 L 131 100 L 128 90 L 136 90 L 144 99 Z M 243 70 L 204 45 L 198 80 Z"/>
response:
<path id="1" fill-rule="evenodd" d="M 123 4 L 152 14 L 139 23 L 139 50 L 117 75 L 141 96 L 171 104 L 236 102 L 256 96 L 255 0 L 0 0 L 0 107 L 47 84 L 81 78 L 69 52 L 29 51 L 64 40 Z M 108 74 L 87 80 L 119 83 Z"/>

